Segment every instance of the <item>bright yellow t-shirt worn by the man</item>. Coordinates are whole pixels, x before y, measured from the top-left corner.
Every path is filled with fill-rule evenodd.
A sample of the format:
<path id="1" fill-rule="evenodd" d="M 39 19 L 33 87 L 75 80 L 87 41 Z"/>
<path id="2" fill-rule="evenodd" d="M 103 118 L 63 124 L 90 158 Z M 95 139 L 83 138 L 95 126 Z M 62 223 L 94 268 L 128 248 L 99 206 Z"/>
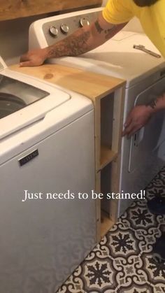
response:
<path id="1" fill-rule="evenodd" d="M 108 0 L 103 9 L 103 18 L 113 24 L 129 22 L 134 16 L 138 17 L 145 34 L 165 58 L 165 0 L 150 7 L 139 7 L 133 0 Z"/>

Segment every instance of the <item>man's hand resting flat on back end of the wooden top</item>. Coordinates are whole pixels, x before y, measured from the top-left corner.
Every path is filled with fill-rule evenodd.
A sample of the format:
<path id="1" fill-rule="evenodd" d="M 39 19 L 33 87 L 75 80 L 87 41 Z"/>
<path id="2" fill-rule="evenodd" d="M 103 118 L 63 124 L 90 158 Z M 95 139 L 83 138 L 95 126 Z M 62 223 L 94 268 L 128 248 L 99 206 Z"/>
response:
<path id="1" fill-rule="evenodd" d="M 47 59 L 47 49 L 36 49 L 20 57 L 20 66 L 40 66 Z"/>

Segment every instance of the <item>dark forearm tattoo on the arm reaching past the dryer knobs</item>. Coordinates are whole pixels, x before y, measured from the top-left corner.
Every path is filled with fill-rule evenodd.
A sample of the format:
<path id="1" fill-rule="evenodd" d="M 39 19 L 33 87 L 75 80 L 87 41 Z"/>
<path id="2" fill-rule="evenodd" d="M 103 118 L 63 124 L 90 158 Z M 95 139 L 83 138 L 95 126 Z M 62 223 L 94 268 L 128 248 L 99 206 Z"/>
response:
<path id="1" fill-rule="evenodd" d="M 90 32 L 84 31 L 79 36 L 69 36 L 56 45 L 50 46 L 49 58 L 62 56 L 78 56 L 89 50 L 87 41 L 90 38 Z"/>

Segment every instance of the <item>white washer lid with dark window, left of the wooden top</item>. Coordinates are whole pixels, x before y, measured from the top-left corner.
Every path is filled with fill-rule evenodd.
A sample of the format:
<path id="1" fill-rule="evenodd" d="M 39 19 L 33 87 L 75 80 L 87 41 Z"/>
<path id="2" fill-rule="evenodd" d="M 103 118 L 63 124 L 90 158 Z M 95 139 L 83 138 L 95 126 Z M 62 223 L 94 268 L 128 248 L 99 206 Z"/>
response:
<path id="1" fill-rule="evenodd" d="M 42 120 L 52 109 L 71 99 L 53 85 L 23 75 L 18 75 L 22 80 L 16 80 L 5 72 L 8 73 L 4 70 L 0 74 L 0 139 Z"/>

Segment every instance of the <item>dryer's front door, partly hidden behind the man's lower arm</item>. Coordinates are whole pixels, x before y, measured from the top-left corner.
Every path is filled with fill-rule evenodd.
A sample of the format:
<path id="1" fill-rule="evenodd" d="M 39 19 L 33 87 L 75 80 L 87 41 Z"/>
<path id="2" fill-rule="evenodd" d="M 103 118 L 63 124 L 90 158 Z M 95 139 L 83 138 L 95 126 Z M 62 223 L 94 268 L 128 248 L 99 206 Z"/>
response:
<path id="1" fill-rule="evenodd" d="M 165 91 L 165 78 L 148 87 L 138 94 L 134 105 L 148 104 L 159 94 Z M 146 166 L 150 159 L 160 157 L 165 158 L 165 112 L 164 110 L 152 115 L 148 124 L 131 136 L 131 148 L 129 154 L 129 172 L 141 166 Z M 163 151 L 162 151 L 163 150 Z"/>

